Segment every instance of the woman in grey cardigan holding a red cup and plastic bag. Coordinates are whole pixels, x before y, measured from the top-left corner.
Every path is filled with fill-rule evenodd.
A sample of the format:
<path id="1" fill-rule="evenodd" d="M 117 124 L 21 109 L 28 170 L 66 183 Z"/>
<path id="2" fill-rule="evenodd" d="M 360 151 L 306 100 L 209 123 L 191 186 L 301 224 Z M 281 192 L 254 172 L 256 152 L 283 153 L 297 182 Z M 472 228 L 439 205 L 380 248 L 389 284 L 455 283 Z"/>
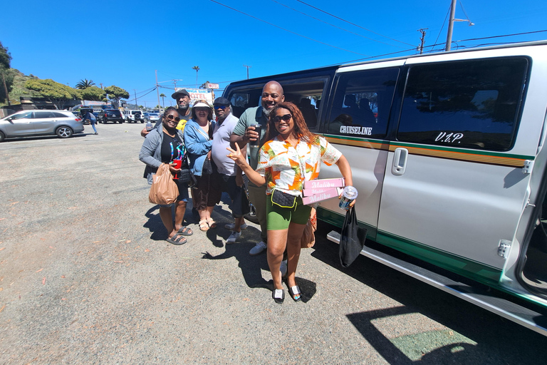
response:
<path id="1" fill-rule="evenodd" d="M 146 135 L 145 142 L 140 148 L 139 160 L 146 164 L 145 178 L 152 184 L 152 175 L 162 163 L 169 164 L 169 170 L 176 174 L 181 168 L 176 168 L 174 160 L 182 160 L 182 168 L 188 168 L 187 153 L 184 146 L 184 138 L 180 130 L 177 130 L 179 123 L 177 109 L 170 106 L 162 116 L 162 124 L 157 125 Z M 167 242 L 173 245 L 183 245 L 187 242 L 184 236 L 191 236 L 192 230 L 182 225 L 186 204 L 188 202 L 188 184 L 174 180 L 179 188 L 179 196 L 174 202 L 174 225 L 170 205 L 160 205 L 160 217 L 167 229 Z"/>

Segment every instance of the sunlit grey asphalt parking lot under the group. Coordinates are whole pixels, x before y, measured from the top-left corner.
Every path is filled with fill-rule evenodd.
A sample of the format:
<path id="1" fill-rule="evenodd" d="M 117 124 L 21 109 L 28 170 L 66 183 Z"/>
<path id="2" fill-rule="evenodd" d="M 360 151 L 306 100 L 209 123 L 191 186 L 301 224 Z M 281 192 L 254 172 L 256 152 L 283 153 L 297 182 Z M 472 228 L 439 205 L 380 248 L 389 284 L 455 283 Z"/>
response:
<path id="1" fill-rule="evenodd" d="M 547 338 L 325 239 L 271 299 L 259 230 L 165 241 L 141 124 L 0 143 L 0 364 L 545 364 Z"/>

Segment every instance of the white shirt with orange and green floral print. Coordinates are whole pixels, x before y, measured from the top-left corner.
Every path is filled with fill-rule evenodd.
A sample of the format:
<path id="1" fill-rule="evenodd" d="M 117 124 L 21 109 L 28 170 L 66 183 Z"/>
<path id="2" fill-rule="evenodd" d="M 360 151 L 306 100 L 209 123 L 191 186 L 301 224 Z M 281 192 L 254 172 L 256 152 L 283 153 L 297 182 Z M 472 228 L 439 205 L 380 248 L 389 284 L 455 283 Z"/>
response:
<path id="1" fill-rule="evenodd" d="M 316 143 L 298 140 L 293 147 L 278 135 L 262 146 L 256 172 L 266 178 L 267 195 L 277 189 L 298 196 L 302 195 L 305 180 L 318 178 L 321 162 L 333 165 L 341 155 L 323 137 L 318 137 Z"/>

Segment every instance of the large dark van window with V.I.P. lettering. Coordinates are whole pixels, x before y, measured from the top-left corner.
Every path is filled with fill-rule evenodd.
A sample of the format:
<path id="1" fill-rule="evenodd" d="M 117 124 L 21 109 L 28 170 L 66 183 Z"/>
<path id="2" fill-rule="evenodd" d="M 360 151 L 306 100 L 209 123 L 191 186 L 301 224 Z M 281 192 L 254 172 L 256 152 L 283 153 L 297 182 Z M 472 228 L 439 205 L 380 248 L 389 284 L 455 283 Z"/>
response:
<path id="1" fill-rule="evenodd" d="M 526 58 L 412 66 L 397 140 L 509 150 L 527 68 Z"/>

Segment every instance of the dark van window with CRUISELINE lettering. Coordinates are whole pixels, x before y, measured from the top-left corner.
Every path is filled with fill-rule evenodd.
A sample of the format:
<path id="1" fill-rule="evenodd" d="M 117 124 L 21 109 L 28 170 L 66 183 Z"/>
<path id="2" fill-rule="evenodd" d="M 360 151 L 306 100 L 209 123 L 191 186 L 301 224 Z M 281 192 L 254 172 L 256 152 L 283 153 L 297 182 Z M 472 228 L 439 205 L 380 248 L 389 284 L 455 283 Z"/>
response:
<path id="1" fill-rule="evenodd" d="M 398 68 L 340 73 L 325 133 L 385 138 Z"/>

